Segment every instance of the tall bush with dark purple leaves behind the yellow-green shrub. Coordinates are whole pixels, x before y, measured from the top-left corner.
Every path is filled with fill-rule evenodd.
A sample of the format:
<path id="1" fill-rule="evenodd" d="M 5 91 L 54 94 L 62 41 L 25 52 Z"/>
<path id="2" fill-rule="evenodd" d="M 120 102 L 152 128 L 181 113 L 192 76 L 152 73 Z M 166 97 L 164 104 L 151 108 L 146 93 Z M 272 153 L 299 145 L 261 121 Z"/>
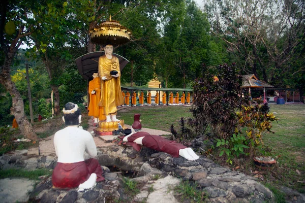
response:
<path id="1" fill-rule="evenodd" d="M 214 76 L 219 80 L 214 81 Z M 241 77 L 234 63 L 219 65 L 216 71 L 202 66 L 202 76 L 193 85 L 195 106 L 189 122 L 198 136 L 204 134 L 208 126 L 216 138 L 226 140 L 232 136 L 237 124 L 236 109 L 249 104 L 247 96 L 241 97 L 240 86 Z"/>

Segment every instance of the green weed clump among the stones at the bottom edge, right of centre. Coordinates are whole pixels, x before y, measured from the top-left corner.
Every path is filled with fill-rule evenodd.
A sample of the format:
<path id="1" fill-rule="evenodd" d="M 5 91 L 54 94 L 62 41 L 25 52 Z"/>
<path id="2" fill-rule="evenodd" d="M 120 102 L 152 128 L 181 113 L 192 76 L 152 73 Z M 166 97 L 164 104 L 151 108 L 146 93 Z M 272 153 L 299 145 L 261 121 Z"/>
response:
<path id="1" fill-rule="evenodd" d="M 174 187 L 175 195 L 181 200 L 188 200 L 190 202 L 203 202 L 208 194 L 200 189 L 196 182 L 182 181 L 179 185 Z"/>

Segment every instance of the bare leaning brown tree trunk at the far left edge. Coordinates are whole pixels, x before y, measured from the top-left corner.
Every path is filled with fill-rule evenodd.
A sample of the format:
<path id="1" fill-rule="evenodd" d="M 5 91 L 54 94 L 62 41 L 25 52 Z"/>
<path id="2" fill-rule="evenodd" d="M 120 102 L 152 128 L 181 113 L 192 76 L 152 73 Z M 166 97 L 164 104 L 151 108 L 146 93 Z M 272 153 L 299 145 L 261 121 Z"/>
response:
<path id="1" fill-rule="evenodd" d="M 40 138 L 37 137 L 37 134 L 35 133 L 32 124 L 28 121 L 28 119 L 24 114 L 23 100 L 16 88 L 16 85 L 12 82 L 10 72 L 8 71 L 9 67 L 4 67 L 4 66 L 3 66 L 4 70 L 0 75 L 0 82 L 3 86 L 6 87 L 6 90 L 9 91 L 12 96 L 11 113 L 15 116 L 19 128 L 25 138 L 32 141 L 40 140 Z"/>

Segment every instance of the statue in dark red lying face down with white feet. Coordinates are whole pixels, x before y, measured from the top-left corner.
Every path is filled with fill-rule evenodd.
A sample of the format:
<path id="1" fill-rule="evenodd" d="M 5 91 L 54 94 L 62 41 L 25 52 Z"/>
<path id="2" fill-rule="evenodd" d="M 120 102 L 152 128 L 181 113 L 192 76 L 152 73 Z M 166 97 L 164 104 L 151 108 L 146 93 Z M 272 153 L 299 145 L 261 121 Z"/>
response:
<path id="1" fill-rule="evenodd" d="M 143 145 L 149 149 L 153 149 L 156 151 L 166 152 L 173 157 L 182 156 L 188 160 L 196 160 L 199 158 L 197 154 L 191 149 L 180 143 L 176 143 L 175 141 L 170 141 L 160 136 L 155 136 L 153 134 L 149 134 L 148 132 L 141 132 L 142 125 L 140 123 L 140 114 L 134 115 L 134 123 L 131 126 L 131 133 L 128 136 L 123 138 L 124 142 L 136 143 L 138 145 Z M 140 148 L 132 146 L 139 151 Z"/>

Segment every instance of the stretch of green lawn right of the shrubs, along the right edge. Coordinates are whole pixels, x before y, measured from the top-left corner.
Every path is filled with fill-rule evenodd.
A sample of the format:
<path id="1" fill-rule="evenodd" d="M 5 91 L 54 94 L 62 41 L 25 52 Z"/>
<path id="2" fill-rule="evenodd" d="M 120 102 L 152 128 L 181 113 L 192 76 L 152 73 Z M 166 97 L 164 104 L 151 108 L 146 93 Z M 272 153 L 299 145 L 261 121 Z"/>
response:
<path id="1" fill-rule="evenodd" d="M 305 193 L 305 105 L 271 105 L 270 111 L 279 121 L 273 122 L 275 133 L 266 133 L 263 141 L 278 157 L 275 182 Z"/>

